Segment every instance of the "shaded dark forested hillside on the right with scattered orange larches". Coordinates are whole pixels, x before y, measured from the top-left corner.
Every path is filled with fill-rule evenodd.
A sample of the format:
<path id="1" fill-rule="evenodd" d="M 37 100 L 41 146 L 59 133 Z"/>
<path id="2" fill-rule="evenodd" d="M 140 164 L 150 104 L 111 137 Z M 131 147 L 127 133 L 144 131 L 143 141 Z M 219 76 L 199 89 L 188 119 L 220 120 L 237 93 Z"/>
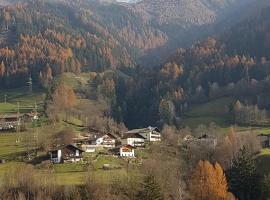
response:
<path id="1" fill-rule="evenodd" d="M 194 104 L 233 98 L 234 103 L 239 100 L 236 107 L 241 117 L 234 103 L 226 103 L 223 112 L 235 116 L 229 123 L 234 119 L 243 124 L 266 123 L 270 107 L 270 16 L 269 7 L 264 5 L 225 33 L 187 49 L 179 48 L 159 70 L 142 69 L 140 73 L 147 76 L 134 76 L 136 84 L 131 88 L 135 89 L 128 90 L 128 96 L 133 95 L 127 98 L 131 106 L 126 122 L 160 119 L 160 123 L 183 124 Z M 254 117 L 248 119 L 251 114 Z"/>

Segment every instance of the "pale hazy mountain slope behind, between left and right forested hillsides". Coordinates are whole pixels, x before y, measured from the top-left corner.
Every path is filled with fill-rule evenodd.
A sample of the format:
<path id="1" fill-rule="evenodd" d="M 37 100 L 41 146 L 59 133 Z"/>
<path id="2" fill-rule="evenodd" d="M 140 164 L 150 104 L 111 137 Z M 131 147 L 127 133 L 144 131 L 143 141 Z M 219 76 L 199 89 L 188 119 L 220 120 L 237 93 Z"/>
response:
<path id="1" fill-rule="evenodd" d="M 140 62 L 143 66 L 158 65 L 178 47 L 188 47 L 230 28 L 254 0 L 144 0 L 125 4 L 134 13 L 167 35 L 164 46 L 151 49 Z"/>

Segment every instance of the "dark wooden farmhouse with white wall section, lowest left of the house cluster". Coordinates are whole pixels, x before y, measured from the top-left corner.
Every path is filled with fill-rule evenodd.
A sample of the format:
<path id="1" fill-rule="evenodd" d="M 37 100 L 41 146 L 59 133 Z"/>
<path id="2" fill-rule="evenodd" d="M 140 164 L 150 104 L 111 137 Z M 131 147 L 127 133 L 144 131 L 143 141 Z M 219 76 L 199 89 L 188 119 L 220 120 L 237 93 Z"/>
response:
<path id="1" fill-rule="evenodd" d="M 82 160 L 83 152 L 72 144 L 62 145 L 50 152 L 50 159 L 53 163 L 78 162 Z"/>

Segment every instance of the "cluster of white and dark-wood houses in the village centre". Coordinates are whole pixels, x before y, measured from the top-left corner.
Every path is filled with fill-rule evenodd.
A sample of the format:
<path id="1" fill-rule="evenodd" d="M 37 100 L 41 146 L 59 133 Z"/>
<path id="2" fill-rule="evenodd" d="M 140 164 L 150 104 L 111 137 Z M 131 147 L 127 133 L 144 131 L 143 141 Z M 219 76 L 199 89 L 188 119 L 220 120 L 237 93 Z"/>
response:
<path id="1" fill-rule="evenodd" d="M 53 163 L 81 161 L 83 152 L 94 153 L 106 149 L 112 155 L 135 157 L 135 148 L 143 148 L 146 143 L 161 141 L 161 134 L 156 127 L 134 129 L 119 135 L 100 133 L 91 129 L 87 136 L 78 138 L 74 144 L 58 146 L 50 152 Z"/>

